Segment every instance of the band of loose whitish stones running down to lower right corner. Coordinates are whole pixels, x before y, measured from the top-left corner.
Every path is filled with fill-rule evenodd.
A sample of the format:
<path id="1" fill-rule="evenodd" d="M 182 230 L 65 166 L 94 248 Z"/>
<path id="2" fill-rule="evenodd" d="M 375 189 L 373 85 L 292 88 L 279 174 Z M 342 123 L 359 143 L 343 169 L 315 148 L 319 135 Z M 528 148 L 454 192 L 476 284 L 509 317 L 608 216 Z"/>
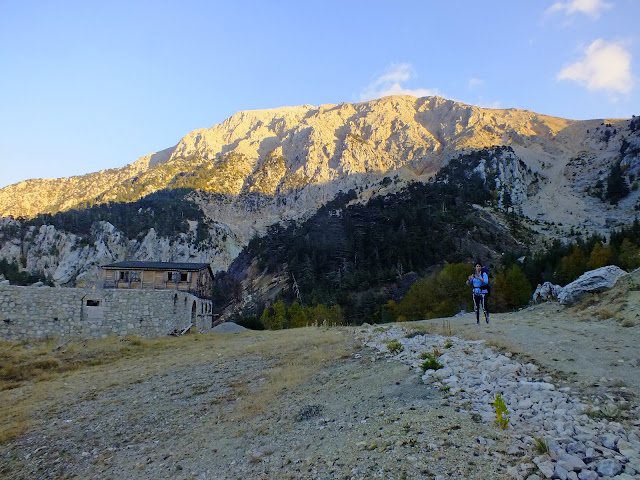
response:
<path id="1" fill-rule="evenodd" d="M 549 449 L 548 455 L 533 459 L 537 467 L 535 473 L 526 463 L 513 459 L 514 465 L 518 465 L 517 469 L 508 470 L 513 478 L 596 480 L 600 476 L 634 475 L 640 471 L 637 429 L 628 432 L 618 422 L 588 418 L 583 414 L 585 404 L 572 396 L 570 389 L 556 389 L 553 379 L 547 375 L 536 378 L 539 369 L 531 363 L 519 363 L 517 357 L 500 354 L 488 348 L 484 341 L 426 334 L 406 338 L 405 331 L 398 327 L 378 328 L 378 331 L 369 327 L 359 334 L 367 346 L 419 370 L 425 388 L 446 386 L 447 403 L 459 405 L 480 421 L 495 422 L 494 402 L 500 394 L 508 412 L 503 416 L 506 429 L 514 440 L 522 439 L 525 449 L 536 447 L 538 442 Z M 399 341 L 403 352 L 390 354 L 387 348 L 390 340 Z M 434 352 L 445 352 L 437 358 L 442 368 L 422 372 L 421 358 Z M 628 441 L 631 439 L 634 443 Z M 479 443 L 487 442 L 480 438 Z M 514 447 L 507 453 L 516 457 L 518 452 Z"/>

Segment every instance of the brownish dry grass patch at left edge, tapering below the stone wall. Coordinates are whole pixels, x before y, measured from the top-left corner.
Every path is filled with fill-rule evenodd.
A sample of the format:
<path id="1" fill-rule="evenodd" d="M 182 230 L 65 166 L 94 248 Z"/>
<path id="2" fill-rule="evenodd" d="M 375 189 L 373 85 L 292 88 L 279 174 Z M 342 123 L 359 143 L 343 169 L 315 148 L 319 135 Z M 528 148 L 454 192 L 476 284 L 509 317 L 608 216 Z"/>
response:
<path id="1" fill-rule="evenodd" d="M 75 339 L 64 345 L 59 340 L 0 342 L 0 444 L 27 431 L 36 411 L 55 412 L 59 402 L 134 381 L 143 371 L 136 366 L 161 368 L 168 359 L 195 354 L 212 342 L 216 339 L 205 342 L 200 335 Z"/>

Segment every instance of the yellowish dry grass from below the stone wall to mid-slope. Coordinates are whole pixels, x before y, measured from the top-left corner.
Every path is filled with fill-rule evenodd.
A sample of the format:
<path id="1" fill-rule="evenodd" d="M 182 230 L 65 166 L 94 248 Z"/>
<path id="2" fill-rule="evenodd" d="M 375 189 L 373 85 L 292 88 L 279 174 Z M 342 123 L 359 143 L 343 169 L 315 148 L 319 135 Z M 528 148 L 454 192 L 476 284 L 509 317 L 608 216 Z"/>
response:
<path id="1" fill-rule="evenodd" d="M 197 368 L 198 362 L 214 358 L 258 355 L 264 359 L 266 379 L 259 390 L 252 391 L 256 387 L 250 388 L 242 378 L 231 385 L 230 398 L 238 399 L 234 416 L 249 418 L 274 406 L 279 395 L 329 362 L 349 355 L 354 347 L 351 335 L 314 327 L 234 335 L 73 340 L 57 348 L 61 343 L 0 342 L 0 444 L 29 431 L 34 418 L 51 416 L 60 405 L 95 397 L 100 391 L 184 367 Z"/>

